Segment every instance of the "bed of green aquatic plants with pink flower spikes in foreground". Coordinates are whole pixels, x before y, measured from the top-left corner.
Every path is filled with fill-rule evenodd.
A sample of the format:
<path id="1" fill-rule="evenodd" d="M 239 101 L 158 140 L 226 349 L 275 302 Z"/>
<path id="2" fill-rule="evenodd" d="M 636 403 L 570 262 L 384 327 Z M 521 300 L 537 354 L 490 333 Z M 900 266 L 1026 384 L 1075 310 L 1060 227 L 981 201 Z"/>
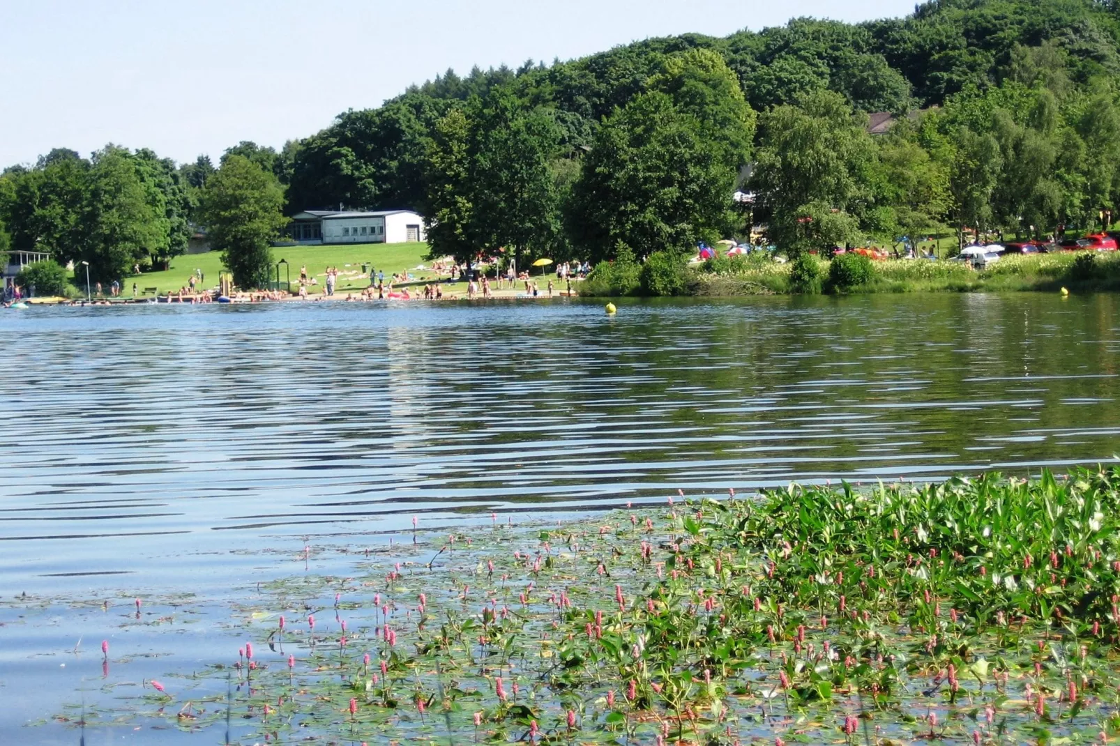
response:
<path id="1" fill-rule="evenodd" d="M 1120 469 L 989 475 L 309 545 L 230 609 L 240 650 L 59 719 L 235 744 L 1100 744 L 1118 509 Z M 326 551 L 352 571 L 304 571 Z"/>

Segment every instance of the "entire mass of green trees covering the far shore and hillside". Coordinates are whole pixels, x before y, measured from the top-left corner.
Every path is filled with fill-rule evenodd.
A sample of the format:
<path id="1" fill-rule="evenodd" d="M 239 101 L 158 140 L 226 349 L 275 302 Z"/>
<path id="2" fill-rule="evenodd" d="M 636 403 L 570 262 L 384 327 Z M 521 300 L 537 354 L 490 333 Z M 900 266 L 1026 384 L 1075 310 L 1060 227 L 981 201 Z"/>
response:
<path id="1" fill-rule="evenodd" d="M 893 127 L 872 137 L 871 112 Z M 1120 6 L 945 0 L 900 19 L 802 18 L 448 71 L 279 152 L 233 146 L 231 160 L 260 194 L 282 187 L 289 214 L 414 208 L 433 253 L 460 259 L 507 249 L 626 262 L 743 240 L 752 225 L 791 255 L 1108 226 L 1120 204 Z M 205 156 L 54 150 L 0 176 L 0 251 L 36 248 L 120 277 L 207 226 L 214 171 Z M 732 203 L 736 188 L 754 202 Z"/>

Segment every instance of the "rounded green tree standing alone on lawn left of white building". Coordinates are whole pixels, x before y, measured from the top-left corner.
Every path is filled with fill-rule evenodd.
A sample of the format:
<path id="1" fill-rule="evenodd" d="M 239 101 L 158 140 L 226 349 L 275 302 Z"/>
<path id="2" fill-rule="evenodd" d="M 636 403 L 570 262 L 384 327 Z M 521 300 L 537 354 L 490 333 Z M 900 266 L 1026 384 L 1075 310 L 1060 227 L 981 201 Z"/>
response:
<path id="1" fill-rule="evenodd" d="M 261 287 L 272 264 L 272 241 L 287 225 L 283 187 L 244 156 L 228 156 L 206 181 L 199 201 L 203 224 L 222 263 L 242 288 Z"/>

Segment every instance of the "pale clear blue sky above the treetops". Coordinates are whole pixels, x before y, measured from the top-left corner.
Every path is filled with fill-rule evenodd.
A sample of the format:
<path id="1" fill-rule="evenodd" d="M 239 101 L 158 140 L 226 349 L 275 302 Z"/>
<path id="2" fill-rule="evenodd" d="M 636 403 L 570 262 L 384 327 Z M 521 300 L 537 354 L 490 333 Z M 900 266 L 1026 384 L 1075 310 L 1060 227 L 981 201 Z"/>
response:
<path id="1" fill-rule="evenodd" d="M 0 168 L 106 142 L 176 160 L 280 147 L 410 83 L 651 36 L 796 16 L 859 21 L 913 0 L 0 0 Z"/>

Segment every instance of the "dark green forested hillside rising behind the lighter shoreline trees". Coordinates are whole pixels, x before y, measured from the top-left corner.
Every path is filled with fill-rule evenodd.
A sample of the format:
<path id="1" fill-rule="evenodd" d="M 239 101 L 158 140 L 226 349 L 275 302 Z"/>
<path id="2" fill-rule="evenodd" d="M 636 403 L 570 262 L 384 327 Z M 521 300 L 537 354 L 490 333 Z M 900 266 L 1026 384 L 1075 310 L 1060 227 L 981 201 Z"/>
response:
<path id="1" fill-rule="evenodd" d="M 423 203 L 417 158 L 433 122 L 456 102 L 512 90 L 554 112 L 564 144 L 590 144 L 603 118 L 645 90 L 668 55 L 712 49 L 735 72 L 755 111 L 828 88 L 865 112 L 943 104 L 969 86 L 1016 74 L 1016 49 L 1053 40 L 1076 83 L 1120 74 L 1120 12 L 1090 0 L 950 0 L 902 19 L 859 25 L 800 18 L 726 38 L 647 39 L 550 66 L 448 71 L 375 110 L 349 111 L 300 143 L 290 171 L 292 207 Z"/>

